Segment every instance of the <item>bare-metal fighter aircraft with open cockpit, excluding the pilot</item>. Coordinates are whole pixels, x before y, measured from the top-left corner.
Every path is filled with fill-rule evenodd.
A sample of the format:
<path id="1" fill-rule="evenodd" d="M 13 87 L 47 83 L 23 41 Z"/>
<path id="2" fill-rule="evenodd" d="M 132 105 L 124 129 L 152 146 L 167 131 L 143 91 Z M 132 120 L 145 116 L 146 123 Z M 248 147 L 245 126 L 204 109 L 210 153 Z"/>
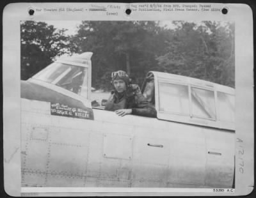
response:
<path id="1" fill-rule="evenodd" d="M 233 88 L 148 72 L 157 118 L 120 117 L 91 99 L 91 57 L 21 80 L 22 187 L 234 187 Z"/>

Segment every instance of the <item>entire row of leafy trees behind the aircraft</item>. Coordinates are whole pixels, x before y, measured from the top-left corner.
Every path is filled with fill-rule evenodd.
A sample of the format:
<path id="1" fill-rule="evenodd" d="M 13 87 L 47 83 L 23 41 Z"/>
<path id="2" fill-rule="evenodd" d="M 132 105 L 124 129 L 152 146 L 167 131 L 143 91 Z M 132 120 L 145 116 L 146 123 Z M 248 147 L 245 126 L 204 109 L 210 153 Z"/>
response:
<path id="1" fill-rule="evenodd" d="M 21 24 L 21 77 L 63 53 L 90 51 L 92 86 L 109 90 L 111 72 L 127 71 L 140 86 L 150 71 L 169 72 L 234 87 L 234 24 L 154 21 L 83 21 L 74 36 L 42 22 Z"/>

